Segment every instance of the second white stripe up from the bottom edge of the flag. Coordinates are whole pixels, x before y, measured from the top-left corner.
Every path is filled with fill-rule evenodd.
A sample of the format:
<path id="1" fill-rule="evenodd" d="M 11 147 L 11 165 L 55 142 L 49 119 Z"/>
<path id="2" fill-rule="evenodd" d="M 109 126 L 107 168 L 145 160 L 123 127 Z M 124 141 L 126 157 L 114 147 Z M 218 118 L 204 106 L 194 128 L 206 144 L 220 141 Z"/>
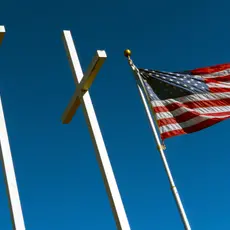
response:
<path id="1" fill-rule="evenodd" d="M 173 118 L 180 116 L 186 112 L 198 112 L 201 115 L 205 115 L 207 113 L 222 113 L 222 112 L 230 112 L 230 106 L 213 106 L 213 107 L 207 107 L 207 108 L 195 108 L 195 109 L 189 109 L 186 107 L 180 107 L 176 110 L 170 111 L 170 112 L 159 112 L 156 113 L 156 119 L 166 119 L 166 118 Z M 210 118 L 217 117 L 217 116 L 208 116 Z"/>

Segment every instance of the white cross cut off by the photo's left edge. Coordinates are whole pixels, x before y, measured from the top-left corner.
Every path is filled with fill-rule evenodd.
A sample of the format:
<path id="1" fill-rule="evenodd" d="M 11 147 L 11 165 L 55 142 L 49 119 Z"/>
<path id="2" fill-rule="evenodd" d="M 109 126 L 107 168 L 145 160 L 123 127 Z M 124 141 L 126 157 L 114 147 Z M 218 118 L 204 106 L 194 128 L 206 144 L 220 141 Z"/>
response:
<path id="1" fill-rule="evenodd" d="M 5 34 L 5 27 L 0 26 L 0 44 Z M 7 186 L 7 195 L 9 199 L 10 212 L 13 229 L 24 230 L 25 224 L 22 214 L 22 208 L 18 193 L 17 181 L 14 172 L 14 165 L 10 151 L 10 144 L 6 130 L 6 123 L 0 99 L 0 158 L 3 165 L 5 182 Z"/>

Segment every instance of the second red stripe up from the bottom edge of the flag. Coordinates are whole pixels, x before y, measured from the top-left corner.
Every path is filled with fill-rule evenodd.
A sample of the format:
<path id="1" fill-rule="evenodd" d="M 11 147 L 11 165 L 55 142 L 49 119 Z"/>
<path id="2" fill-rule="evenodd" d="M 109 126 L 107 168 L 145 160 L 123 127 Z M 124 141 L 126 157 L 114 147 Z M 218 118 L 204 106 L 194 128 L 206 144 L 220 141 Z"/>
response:
<path id="1" fill-rule="evenodd" d="M 157 124 L 159 127 L 164 126 L 164 125 L 177 124 L 177 123 L 180 124 L 182 122 L 188 121 L 192 118 L 199 117 L 199 116 L 213 116 L 213 117 L 215 117 L 215 116 L 228 116 L 228 117 L 230 117 L 230 111 L 222 112 L 222 113 L 207 113 L 207 114 L 202 114 L 202 115 L 200 113 L 195 112 L 195 111 L 186 112 L 186 113 L 183 113 L 177 117 L 163 118 L 163 119 L 157 120 Z"/>

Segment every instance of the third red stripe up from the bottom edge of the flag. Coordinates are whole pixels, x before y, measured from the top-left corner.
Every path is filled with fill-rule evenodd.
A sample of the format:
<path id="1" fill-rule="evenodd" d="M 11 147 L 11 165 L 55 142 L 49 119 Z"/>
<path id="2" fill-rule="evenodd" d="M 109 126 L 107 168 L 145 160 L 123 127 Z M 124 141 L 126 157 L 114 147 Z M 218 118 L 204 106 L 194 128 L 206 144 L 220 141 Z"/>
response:
<path id="1" fill-rule="evenodd" d="M 204 101 L 189 101 L 189 102 L 173 102 L 165 106 L 153 106 L 155 113 L 170 112 L 181 107 L 195 109 L 195 108 L 207 108 L 216 106 L 230 105 L 230 98 L 223 98 L 218 100 L 204 100 Z"/>

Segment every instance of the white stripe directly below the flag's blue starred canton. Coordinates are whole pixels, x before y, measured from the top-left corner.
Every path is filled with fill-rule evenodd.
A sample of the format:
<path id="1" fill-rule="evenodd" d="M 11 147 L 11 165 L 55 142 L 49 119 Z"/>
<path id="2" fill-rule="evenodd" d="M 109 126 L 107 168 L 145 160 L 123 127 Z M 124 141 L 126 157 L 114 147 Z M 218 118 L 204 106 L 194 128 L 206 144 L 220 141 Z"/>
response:
<path id="1" fill-rule="evenodd" d="M 230 92 L 227 93 L 206 93 L 206 94 L 192 94 L 188 96 L 183 96 L 175 99 L 166 100 L 152 100 L 151 104 L 153 107 L 156 106 L 166 106 L 172 103 L 180 102 L 194 102 L 194 101 L 209 101 L 209 100 L 219 100 L 224 98 L 230 98 Z"/>

